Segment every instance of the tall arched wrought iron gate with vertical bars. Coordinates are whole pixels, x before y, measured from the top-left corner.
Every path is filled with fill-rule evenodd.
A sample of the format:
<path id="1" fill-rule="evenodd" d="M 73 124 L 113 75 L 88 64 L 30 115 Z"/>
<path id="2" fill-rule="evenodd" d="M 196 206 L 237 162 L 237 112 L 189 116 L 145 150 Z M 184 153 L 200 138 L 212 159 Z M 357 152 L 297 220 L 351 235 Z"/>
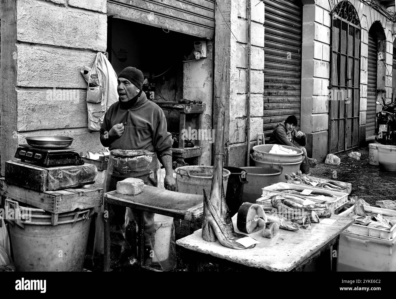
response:
<path id="1" fill-rule="evenodd" d="M 329 153 L 359 145 L 360 21 L 353 5 L 332 11 L 329 95 Z"/>

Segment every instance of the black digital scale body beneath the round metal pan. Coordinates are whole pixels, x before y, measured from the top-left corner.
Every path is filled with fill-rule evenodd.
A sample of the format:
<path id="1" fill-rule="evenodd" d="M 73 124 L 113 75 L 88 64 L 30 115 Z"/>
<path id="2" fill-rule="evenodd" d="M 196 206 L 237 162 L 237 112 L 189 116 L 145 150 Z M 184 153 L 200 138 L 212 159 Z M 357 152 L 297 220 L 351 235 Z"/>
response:
<path id="1" fill-rule="evenodd" d="M 21 162 L 28 161 L 43 167 L 83 165 L 84 160 L 75 150 L 70 147 L 45 149 L 21 144 L 18 146 L 15 158 L 21 159 Z"/>

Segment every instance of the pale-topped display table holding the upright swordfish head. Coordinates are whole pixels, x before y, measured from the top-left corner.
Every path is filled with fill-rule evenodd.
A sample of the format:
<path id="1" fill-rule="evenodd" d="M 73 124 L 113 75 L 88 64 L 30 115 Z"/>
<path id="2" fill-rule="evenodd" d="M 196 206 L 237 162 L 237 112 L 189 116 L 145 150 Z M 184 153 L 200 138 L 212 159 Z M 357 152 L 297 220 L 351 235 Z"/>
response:
<path id="1" fill-rule="evenodd" d="M 332 225 L 325 223 L 312 223 L 312 229 L 299 229 L 289 231 L 279 229 L 278 234 L 272 238 L 263 238 L 261 230 L 249 234 L 260 242 L 251 249 L 231 249 L 224 247 L 217 240 L 206 242 L 202 239 L 202 229 L 190 236 L 176 241 L 176 244 L 194 254 L 194 262 L 200 270 L 200 261 L 204 258 L 214 258 L 219 263 L 232 262 L 231 266 L 242 265 L 242 269 L 262 269 L 268 271 L 301 271 L 322 253 L 328 258 L 328 266 L 332 271 L 337 270 L 337 258 L 330 264 L 330 248 L 338 254 L 338 241 L 340 233 L 353 223 L 353 219 L 339 215 L 331 215 L 330 219 L 336 220 Z M 236 228 L 236 215 L 232 217 L 234 229 Z M 322 218 L 321 218 L 322 220 Z M 322 257 L 323 258 L 323 257 Z M 230 264 L 230 263 L 227 263 Z"/>

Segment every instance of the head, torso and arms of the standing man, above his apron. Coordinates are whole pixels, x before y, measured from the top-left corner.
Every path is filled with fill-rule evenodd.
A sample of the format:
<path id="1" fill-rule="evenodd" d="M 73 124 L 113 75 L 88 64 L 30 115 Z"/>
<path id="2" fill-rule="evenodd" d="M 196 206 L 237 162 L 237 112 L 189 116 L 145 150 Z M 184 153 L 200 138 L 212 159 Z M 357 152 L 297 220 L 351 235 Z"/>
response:
<path id="1" fill-rule="evenodd" d="M 165 167 L 165 189 L 174 191 L 172 136 L 167 131 L 164 111 L 148 101 L 142 91 L 143 81 L 143 73 L 135 67 L 126 67 L 120 72 L 117 78 L 118 102 L 106 112 L 99 130 L 100 141 L 109 150 L 155 152 Z"/>

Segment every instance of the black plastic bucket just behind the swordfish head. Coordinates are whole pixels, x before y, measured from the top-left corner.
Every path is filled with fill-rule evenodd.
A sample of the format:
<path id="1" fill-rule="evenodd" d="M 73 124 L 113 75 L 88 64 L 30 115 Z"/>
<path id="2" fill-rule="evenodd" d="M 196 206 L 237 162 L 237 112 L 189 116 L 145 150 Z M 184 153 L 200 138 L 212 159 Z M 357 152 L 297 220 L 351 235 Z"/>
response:
<path id="1" fill-rule="evenodd" d="M 224 169 L 231 172 L 228 177 L 227 195 L 225 200 L 231 215 L 235 215 L 235 213 L 238 212 L 239 207 L 243 204 L 242 196 L 244 192 L 244 184 L 248 183 L 246 180 L 247 171 L 242 168 L 231 166 L 225 166 Z"/>

